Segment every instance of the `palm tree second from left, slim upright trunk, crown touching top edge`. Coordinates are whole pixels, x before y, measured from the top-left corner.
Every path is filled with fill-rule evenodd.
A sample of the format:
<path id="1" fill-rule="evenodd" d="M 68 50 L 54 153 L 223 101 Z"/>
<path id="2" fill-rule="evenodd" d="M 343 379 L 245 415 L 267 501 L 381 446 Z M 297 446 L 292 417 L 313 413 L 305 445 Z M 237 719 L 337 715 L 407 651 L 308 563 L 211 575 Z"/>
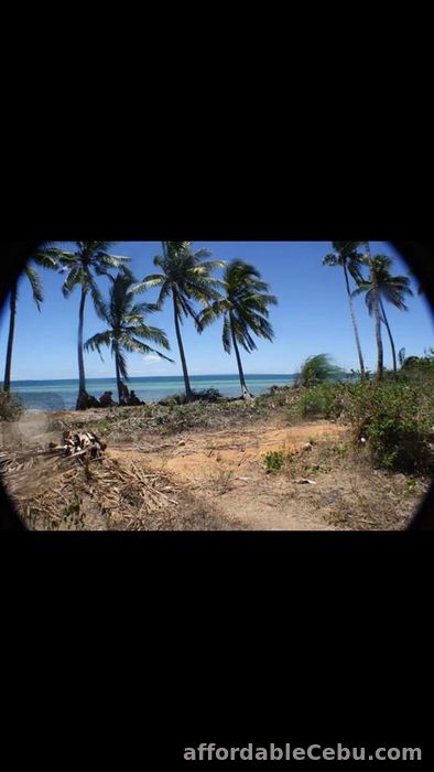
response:
<path id="1" fill-rule="evenodd" d="M 130 258 L 110 255 L 108 249 L 113 245 L 113 242 L 76 242 L 76 245 L 77 250 L 75 253 L 66 251 L 61 248 L 51 248 L 43 254 L 55 255 L 56 259 L 64 267 L 63 270 L 66 271 L 66 278 L 62 291 L 65 298 L 70 296 L 75 287 L 78 285 L 82 287 L 77 340 L 78 397 L 76 409 L 78 410 L 82 404 L 82 397 L 86 393 L 85 363 L 83 356 L 86 298 L 90 293 L 97 314 L 104 319 L 102 299 L 95 280 L 95 275 L 109 276 L 109 268 L 118 268 Z"/>

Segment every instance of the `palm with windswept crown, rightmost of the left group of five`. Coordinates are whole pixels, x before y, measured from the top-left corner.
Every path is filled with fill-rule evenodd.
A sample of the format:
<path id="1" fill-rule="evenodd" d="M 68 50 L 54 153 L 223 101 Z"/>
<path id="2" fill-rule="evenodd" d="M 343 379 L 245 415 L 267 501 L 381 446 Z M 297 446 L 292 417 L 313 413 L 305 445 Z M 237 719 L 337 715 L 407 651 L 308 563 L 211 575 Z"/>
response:
<path id="1" fill-rule="evenodd" d="M 251 333 L 258 337 L 273 339 L 273 329 L 268 321 L 268 307 L 278 300 L 269 294 L 269 286 L 261 281 L 260 272 L 243 260 L 232 260 L 225 270 L 223 280 L 225 297 L 206 308 L 199 318 L 199 330 L 219 317 L 224 318 L 223 345 L 227 354 L 232 346 L 237 358 L 242 398 L 251 397 L 242 372 L 238 344 L 251 352 L 257 345 Z"/>

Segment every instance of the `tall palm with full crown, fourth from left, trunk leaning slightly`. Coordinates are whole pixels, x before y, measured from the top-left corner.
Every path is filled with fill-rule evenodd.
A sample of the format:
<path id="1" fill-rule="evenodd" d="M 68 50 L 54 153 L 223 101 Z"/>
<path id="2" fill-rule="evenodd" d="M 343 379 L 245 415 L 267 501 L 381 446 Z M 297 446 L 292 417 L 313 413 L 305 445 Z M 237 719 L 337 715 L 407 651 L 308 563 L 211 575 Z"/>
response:
<path id="1" fill-rule="evenodd" d="M 200 329 L 198 313 L 191 301 L 196 300 L 206 305 L 211 300 L 217 299 L 217 288 L 221 282 L 211 276 L 211 271 L 215 268 L 223 268 L 225 261 L 207 260 L 204 262 L 204 258 L 210 255 L 209 249 L 192 251 L 192 242 L 162 242 L 162 245 L 163 256 L 158 255 L 154 257 L 154 266 L 161 268 L 162 274 L 147 276 L 143 279 L 143 285 L 147 288 L 161 287 L 158 300 L 159 309 L 162 308 L 166 298 L 172 297 L 176 340 L 184 375 L 185 397 L 189 401 L 193 398 L 193 392 L 189 384 L 180 323 L 183 322 L 183 317 L 192 317 L 198 329 Z"/>

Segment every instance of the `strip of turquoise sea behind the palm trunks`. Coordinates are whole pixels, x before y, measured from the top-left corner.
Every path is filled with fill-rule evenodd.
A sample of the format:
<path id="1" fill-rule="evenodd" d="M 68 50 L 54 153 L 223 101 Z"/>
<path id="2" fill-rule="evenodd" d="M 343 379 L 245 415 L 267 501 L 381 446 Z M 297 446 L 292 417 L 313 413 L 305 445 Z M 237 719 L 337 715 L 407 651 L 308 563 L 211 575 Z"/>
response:
<path id="1" fill-rule="evenodd" d="M 246 380 L 251 393 L 259 395 L 268 392 L 270 386 L 292 384 L 294 377 L 284 374 L 246 375 Z M 217 388 L 227 397 L 238 397 L 241 393 L 237 375 L 192 375 L 191 384 L 196 390 Z M 112 392 L 113 399 L 117 400 L 116 378 L 87 378 L 86 388 L 88 394 L 97 398 L 104 392 Z M 163 397 L 184 392 L 184 380 L 182 376 L 130 378 L 128 388 L 134 389 L 140 399 L 156 403 Z M 11 384 L 11 392 L 29 409 L 70 410 L 75 408 L 78 380 L 15 380 Z"/>

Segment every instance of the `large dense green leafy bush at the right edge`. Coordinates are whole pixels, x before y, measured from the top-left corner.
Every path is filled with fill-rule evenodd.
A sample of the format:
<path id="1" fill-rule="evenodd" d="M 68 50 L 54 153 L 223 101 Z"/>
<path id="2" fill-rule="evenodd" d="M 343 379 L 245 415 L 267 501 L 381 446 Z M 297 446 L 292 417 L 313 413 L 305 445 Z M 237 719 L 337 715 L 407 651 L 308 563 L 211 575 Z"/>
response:
<path id="1" fill-rule="evenodd" d="M 369 442 L 373 461 L 395 471 L 424 471 L 431 464 L 433 411 L 411 383 L 368 380 L 347 385 L 344 415 L 354 439 Z"/>

